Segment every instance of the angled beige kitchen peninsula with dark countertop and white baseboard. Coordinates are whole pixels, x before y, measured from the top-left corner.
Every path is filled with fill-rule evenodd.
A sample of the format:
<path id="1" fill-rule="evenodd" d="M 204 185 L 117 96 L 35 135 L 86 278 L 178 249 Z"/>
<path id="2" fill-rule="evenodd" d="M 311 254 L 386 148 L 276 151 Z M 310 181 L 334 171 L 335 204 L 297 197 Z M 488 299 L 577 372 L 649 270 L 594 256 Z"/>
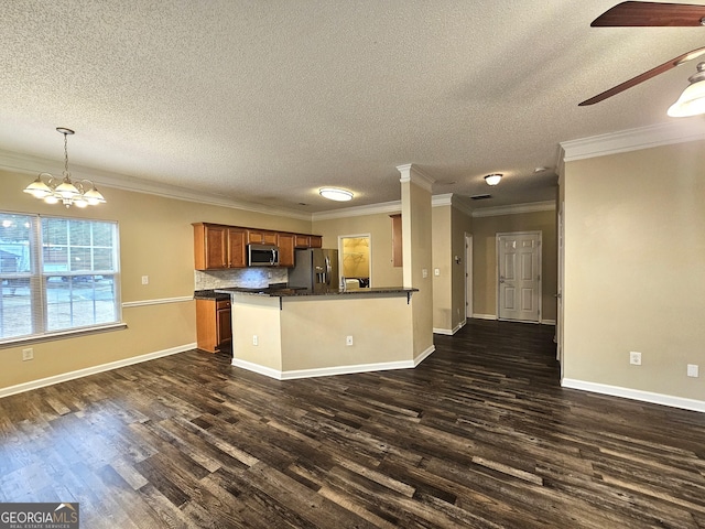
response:
<path id="1" fill-rule="evenodd" d="M 416 291 L 217 290 L 231 299 L 232 365 L 280 380 L 415 367 Z"/>

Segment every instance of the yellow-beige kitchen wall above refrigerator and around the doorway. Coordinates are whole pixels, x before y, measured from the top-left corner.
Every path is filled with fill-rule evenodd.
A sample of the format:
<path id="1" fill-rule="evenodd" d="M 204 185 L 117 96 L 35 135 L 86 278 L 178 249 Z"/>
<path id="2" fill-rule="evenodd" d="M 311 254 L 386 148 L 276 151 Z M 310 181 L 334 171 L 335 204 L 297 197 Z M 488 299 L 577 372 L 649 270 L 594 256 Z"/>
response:
<path id="1" fill-rule="evenodd" d="M 338 248 L 338 236 L 370 234 L 372 287 L 401 287 L 402 267 L 392 266 L 392 219 L 389 214 L 361 215 L 313 222 L 313 233 L 323 235 L 324 248 Z"/>

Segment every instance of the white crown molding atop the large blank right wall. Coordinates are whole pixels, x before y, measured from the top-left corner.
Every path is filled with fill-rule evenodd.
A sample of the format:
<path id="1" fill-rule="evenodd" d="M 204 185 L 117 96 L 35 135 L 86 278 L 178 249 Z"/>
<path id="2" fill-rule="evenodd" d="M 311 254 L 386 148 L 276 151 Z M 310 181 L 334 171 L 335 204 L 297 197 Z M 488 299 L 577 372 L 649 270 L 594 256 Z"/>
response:
<path id="1" fill-rule="evenodd" d="M 705 140 L 705 119 L 676 118 L 665 123 L 593 136 L 560 143 L 558 160 L 573 162 L 653 147 Z"/>

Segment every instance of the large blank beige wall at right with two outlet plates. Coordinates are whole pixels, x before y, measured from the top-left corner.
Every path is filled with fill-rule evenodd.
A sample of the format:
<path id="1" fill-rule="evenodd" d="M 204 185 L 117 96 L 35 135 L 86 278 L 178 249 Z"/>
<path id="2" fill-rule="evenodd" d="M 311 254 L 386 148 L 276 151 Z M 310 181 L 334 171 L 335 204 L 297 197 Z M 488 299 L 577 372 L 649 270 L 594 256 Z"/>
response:
<path id="1" fill-rule="evenodd" d="M 705 142 L 566 163 L 565 378 L 705 400 L 704 166 Z"/>

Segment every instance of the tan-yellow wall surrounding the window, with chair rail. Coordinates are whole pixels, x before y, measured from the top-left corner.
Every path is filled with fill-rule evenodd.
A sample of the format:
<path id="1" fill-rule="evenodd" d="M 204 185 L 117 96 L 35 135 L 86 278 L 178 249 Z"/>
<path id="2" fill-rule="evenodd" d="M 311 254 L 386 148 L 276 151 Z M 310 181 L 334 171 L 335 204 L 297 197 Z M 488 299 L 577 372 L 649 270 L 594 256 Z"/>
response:
<path id="1" fill-rule="evenodd" d="M 311 223 L 228 207 L 101 187 L 108 203 L 87 209 L 50 206 L 22 190 L 33 175 L 0 172 L 6 191 L 0 209 L 17 213 L 109 219 L 119 223 L 122 302 L 191 296 L 194 291 L 193 228 L 212 222 L 308 233 Z M 13 192 L 15 190 L 17 192 Z M 149 276 L 149 284 L 141 277 Z M 28 345 L 0 348 L 0 390 L 65 373 L 194 344 L 195 303 L 122 309 L 127 330 L 33 343 L 34 360 L 22 361 Z"/>

